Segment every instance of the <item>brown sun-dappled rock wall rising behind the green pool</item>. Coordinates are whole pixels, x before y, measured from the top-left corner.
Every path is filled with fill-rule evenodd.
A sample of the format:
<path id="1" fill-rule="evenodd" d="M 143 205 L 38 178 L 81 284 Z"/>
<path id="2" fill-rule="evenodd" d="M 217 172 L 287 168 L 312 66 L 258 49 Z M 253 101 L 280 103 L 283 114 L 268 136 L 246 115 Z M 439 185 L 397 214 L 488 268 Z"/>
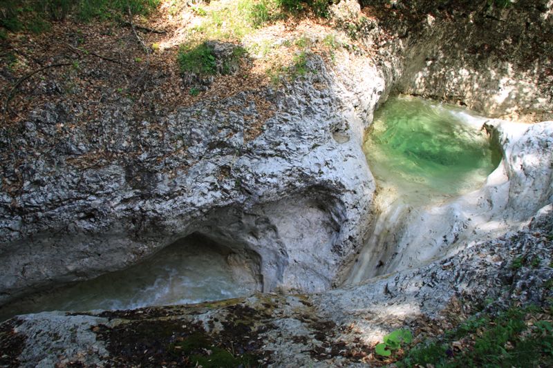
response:
<path id="1" fill-rule="evenodd" d="M 403 93 L 464 104 L 489 117 L 553 119 L 551 3 L 453 4 L 451 17 L 420 16 L 406 52 Z M 417 12 L 429 1 L 401 4 Z"/>

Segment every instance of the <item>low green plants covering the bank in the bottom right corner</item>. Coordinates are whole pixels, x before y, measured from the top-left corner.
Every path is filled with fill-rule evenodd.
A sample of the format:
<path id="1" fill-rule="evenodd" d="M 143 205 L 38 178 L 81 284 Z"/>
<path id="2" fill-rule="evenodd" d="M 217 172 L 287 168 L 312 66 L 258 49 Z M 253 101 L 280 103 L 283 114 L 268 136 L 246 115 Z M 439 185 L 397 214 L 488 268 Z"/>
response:
<path id="1" fill-rule="evenodd" d="M 545 317 L 544 311 L 534 306 L 511 307 L 494 316 L 474 316 L 456 331 L 409 349 L 397 366 L 550 367 L 552 310 Z"/>

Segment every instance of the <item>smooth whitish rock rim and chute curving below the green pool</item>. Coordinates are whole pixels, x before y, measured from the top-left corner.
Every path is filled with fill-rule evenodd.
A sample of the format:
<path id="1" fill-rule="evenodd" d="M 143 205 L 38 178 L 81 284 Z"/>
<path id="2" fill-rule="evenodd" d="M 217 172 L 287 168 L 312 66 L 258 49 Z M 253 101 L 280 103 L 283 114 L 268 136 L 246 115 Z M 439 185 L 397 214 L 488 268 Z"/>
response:
<path id="1" fill-rule="evenodd" d="M 483 239 L 518 229 L 553 202 L 553 122 L 485 123 L 503 159 L 476 191 L 443 204 L 379 198 L 373 235 L 353 265 L 348 283 L 420 267 Z"/>

